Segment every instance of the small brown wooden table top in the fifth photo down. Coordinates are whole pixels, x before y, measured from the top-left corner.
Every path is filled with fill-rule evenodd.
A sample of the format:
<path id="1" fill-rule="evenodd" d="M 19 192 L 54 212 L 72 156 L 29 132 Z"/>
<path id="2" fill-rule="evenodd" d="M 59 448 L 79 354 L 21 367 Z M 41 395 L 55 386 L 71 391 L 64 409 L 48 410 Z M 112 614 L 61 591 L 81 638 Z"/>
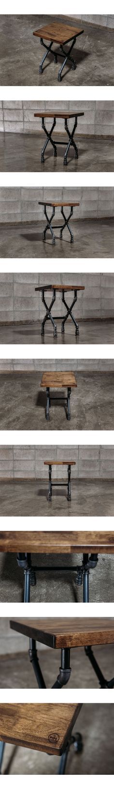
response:
<path id="1" fill-rule="evenodd" d="M 77 388 L 74 371 L 43 371 L 41 388 Z"/>

